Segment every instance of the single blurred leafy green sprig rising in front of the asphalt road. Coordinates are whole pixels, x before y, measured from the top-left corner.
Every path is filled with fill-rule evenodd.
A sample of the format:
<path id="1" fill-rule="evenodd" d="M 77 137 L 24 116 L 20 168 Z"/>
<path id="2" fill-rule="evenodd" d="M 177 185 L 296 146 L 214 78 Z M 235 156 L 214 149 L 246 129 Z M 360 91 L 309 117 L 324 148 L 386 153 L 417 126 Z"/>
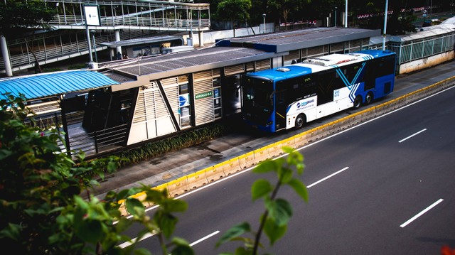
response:
<path id="1" fill-rule="evenodd" d="M 284 236 L 287 231 L 287 224 L 292 217 L 292 207 L 287 200 L 277 197 L 278 190 L 283 185 L 289 185 L 305 201 L 308 202 L 308 192 L 306 186 L 298 178 L 294 178 L 294 170 L 301 175 L 304 171 L 304 156 L 292 148 L 283 147 L 283 151 L 289 153 L 287 158 L 277 158 L 276 160 L 267 160 L 253 170 L 254 173 L 268 173 L 274 171 L 277 174 L 277 183 L 273 186 L 268 180 L 259 179 L 253 183 L 251 188 L 252 200 L 262 198 L 264 200 L 265 212 L 260 217 L 259 229 L 252 232 L 248 222 L 237 224 L 228 230 L 216 246 L 225 242 L 241 241 L 244 246 L 235 250 L 235 255 L 256 255 L 258 254 L 262 232 L 267 235 L 270 245 L 277 242 Z M 250 233 L 254 238 L 242 237 Z"/>

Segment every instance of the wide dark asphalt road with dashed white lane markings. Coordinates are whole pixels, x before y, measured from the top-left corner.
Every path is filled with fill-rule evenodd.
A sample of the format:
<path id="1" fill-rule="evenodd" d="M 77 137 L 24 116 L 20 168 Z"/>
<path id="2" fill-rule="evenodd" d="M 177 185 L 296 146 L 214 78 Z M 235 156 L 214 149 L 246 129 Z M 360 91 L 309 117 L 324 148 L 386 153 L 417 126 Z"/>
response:
<path id="1" fill-rule="evenodd" d="M 301 149 L 309 188 L 305 204 L 289 188 L 294 215 L 272 254 L 439 254 L 455 247 L 455 88 L 365 122 Z M 194 243 L 196 254 L 215 249 L 233 225 L 257 229 L 261 201 L 250 187 L 262 175 L 247 170 L 184 195 L 176 236 Z M 269 180 L 274 180 L 267 176 Z M 153 213 L 151 210 L 150 213 Z M 211 236 L 212 235 L 212 236 Z M 160 254 L 156 238 L 139 243 Z"/>

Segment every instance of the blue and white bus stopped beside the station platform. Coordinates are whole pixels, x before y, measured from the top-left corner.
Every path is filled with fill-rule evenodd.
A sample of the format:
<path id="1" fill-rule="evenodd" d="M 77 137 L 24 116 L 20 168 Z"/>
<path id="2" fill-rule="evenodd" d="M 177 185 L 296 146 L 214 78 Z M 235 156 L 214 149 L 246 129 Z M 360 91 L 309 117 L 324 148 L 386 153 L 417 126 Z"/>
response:
<path id="1" fill-rule="evenodd" d="M 242 116 L 257 129 L 300 129 L 306 122 L 370 104 L 393 91 L 395 53 L 324 55 L 242 77 Z"/>

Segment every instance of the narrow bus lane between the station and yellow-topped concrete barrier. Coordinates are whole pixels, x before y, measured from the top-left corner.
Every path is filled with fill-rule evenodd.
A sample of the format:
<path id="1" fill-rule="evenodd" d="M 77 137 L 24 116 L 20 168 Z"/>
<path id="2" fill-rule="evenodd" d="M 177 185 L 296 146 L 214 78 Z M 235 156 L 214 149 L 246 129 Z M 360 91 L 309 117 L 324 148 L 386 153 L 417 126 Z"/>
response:
<path id="1" fill-rule="evenodd" d="M 149 161 L 120 168 L 117 173 L 107 176 L 107 179 L 100 183 L 99 187 L 95 187 L 95 195 L 103 198 L 110 190 L 118 192 L 127 188 L 139 187 L 140 183 L 156 187 L 185 175 L 196 173 L 198 170 L 228 161 L 230 158 L 249 153 L 257 148 L 282 141 L 316 126 L 321 126 L 349 114 L 383 104 L 453 76 L 455 76 L 455 61 L 444 63 L 428 70 L 422 70 L 412 75 L 397 77 L 394 92 L 385 99 L 373 102 L 368 107 L 360 107 L 358 110 L 348 109 L 344 112 L 312 121 L 304 129 L 298 131 L 291 129 L 280 131 L 277 134 L 255 134 L 254 130 L 242 126 L 241 120 L 237 119 L 240 116 L 235 116 L 226 121 L 226 123 L 237 127 L 237 131 L 232 134 L 201 143 L 198 146 L 166 153 L 163 156 L 151 158 Z"/>

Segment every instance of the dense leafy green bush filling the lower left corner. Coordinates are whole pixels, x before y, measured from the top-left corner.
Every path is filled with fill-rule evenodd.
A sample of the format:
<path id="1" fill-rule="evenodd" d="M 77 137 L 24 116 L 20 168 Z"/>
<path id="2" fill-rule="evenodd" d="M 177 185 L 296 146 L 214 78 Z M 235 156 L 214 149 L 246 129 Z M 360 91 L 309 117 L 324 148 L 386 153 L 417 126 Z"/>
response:
<path id="1" fill-rule="evenodd" d="M 98 184 L 94 176 L 103 177 L 105 171 L 115 169 L 116 158 L 84 161 L 81 154 L 75 163 L 57 146 L 56 131 L 23 124 L 31 114 L 23 101 L 23 96 L 11 95 L 0 101 L 0 243 L 4 249 L 17 254 L 149 254 L 135 249 L 135 242 L 122 234 L 135 222 L 144 226 L 138 240 L 150 232 L 170 236 L 177 222 L 173 212 L 186 210 L 184 202 L 168 198 L 166 190 L 147 187 L 108 192 L 102 201 L 90 193 L 90 199 L 82 199 L 82 191 Z M 145 215 L 142 202 L 132 197 L 143 191 L 162 205 L 152 219 Z M 133 219 L 120 214 L 121 200 Z M 125 249 L 117 246 L 130 241 L 132 245 Z M 191 251 L 180 239 L 163 247 Z"/>

